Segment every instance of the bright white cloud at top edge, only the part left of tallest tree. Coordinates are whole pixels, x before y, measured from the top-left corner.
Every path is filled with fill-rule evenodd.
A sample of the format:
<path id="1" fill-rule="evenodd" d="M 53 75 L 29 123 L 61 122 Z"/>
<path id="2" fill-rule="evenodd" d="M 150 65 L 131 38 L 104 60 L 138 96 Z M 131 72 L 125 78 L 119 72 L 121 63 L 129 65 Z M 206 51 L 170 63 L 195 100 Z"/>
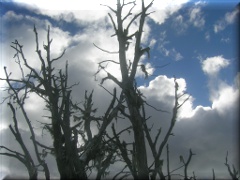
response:
<path id="1" fill-rule="evenodd" d="M 115 7 L 116 4 L 111 0 L 89 0 L 84 2 L 77 0 L 14 0 L 14 2 L 37 14 L 48 15 L 56 20 L 64 19 L 67 22 L 76 21 L 79 24 L 96 21 L 105 17 L 109 9 L 101 4 L 108 4 L 112 7 Z M 81 11 L 84 11 L 84 13 Z"/>

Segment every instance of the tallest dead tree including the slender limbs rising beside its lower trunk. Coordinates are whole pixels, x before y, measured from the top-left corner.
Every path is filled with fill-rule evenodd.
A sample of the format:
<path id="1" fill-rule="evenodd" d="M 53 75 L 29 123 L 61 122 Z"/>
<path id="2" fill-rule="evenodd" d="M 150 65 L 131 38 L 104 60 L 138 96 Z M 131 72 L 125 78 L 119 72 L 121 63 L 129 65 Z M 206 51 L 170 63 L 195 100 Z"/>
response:
<path id="1" fill-rule="evenodd" d="M 132 14 L 132 10 L 136 5 L 136 1 L 131 1 L 128 3 L 125 3 L 125 1 L 122 1 L 121 3 L 120 0 L 117 0 L 116 9 L 107 6 L 112 11 L 112 13 L 116 16 L 116 19 L 114 20 L 112 14 L 110 13 L 108 14 L 115 31 L 115 33 L 112 36 L 117 37 L 118 46 L 119 46 L 118 61 L 107 60 L 107 62 L 119 64 L 122 79 L 118 80 L 116 77 L 114 77 L 114 75 L 108 73 L 104 69 L 102 64 L 105 63 L 106 61 L 102 61 L 101 63 L 99 63 L 99 71 L 104 70 L 105 72 L 107 72 L 107 77 L 102 79 L 101 84 L 107 79 L 112 80 L 121 88 L 124 94 L 124 99 L 126 101 L 126 107 L 127 107 L 126 109 L 128 110 L 129 114 L 124 113 L 123 115 L 130 120 L 133 133 L 134 133 L 134 143 L 132 144 L 134 155 L 131 154 L 132 159 L 131 160 L 129 159 L 128 157 L 129 155 L 126 154 L 126 150 L 127 150 L 126 147 L 119 140 L 116 140 L 115 143 L 118 145 L 122 153 L 122 157 L 125 160 L 134 179 L 149 179 L 150 169 L 147 164 L 148 157 L 146 152 L 145 136 L 146 136 L 147 142 L 150 145 L 150 148 L 154 157 L 155 168 L 151 170 L 151 173 L 152 173 L 151 178 L 155 179 L 157 174 L 159 174 L 159 177 L 161 179 L 165 179 L 161 171 L 161 166 L 163 161 L 160 160 L 160 157 L 161 157 L 163 148 L 168 142 L 169 136 L 172 135 L 172 129 L 177 119 L 178 109 L 188 100 L 188 98 L 186 98 L 182 104 L 179 104 L 179 98 L 181 98 L 184 94 L 179 95 L 178 84 L 176 82 L 176 79 L 174 79 L 175 104 L 172 111 L 172 120 L 171 120 L 170 127 L 167 131 L 167 134 L 164 137 L 163 142 L 160 144 L 160 147 L 157 149 L 156 144 L 158 142 L 158 138 L 161 130 L 159 130 L 159 133 L 157 134 L 155 140 L 153 141 L 150 136 L 150 132 L 148 130 L 149 128 L 147 127 L 147 124 L 146 124 L 146 120 L 148 118 L 145 117 L 144 106 L 149 104 L 143 100 L 143 95 L 137 88 L 136 82 L 135 82 L 135 76 L 136 76 L 137 68 L 139 66 L 141 67 L 142 71 L 145 73 L 145 77 L 147 77 L 148 75 L 145 69 L 145 66 L 143 64 L 139 64 L 139 61 L 140 61 L 140 58 L 145 53 L 147 54 L 148 58 L 150 58 L 150 48 L 149 47 L 143 48 L 141 42 L 142 42 L 142 35 L 144 32 L 144 22 L 147 16 L 151 14 L 148 12 L 148 10 L 152 6 L 152 4 L 153 4 L 153 1 L 150 2 L 148 5 L 145 5 L 144 0 L 142 0 L 141 11 L 135 15 Z M 123 15 L 123 9 L 126 6 L 131 6 L 131 8 L 129 8 L 129 11 L 127 12 L 126 15 Z M 138 30 L 136 32 L 130 33 L 130 28 L 132 27 L 132 24 L 136 23 L 137 21 L 138 21 Z M 126 26 L 124 26 L 125 23 L 127 24 Z M 128 50 L 129 43 L 132 40 L 135 40 L 134 52 L 133 52 L 134 58 L 132 61 L 129 61 L 128 63 L 126 51 Z M 99 49 L 103 50 L 102 48 L 99 48 Z M 104 50 L 104 52 L 111 53 L 107 50 Z M 116 132 L 114 132 L 114 134 L 116 134 Z M 115 138 L 118 139 L 116 135 L 115 135 Z"/>

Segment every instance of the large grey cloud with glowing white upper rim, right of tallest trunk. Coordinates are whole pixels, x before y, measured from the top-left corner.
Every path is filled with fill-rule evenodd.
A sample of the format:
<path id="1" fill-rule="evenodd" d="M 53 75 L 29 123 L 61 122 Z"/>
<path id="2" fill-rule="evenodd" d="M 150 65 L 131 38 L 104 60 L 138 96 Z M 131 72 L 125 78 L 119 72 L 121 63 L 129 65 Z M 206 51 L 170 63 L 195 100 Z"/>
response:
<path id="1" fill-rule="evenodd" d="M 188 89 L 184 79 L 179 78 L 177 81 L 181 90 Z M 158 76 L 148 86 L 141 86 L 140 90 L 146 96 L 148 103 L 171 112 L 174 101 L 172 78 Z M 175 136 L 169 140 L 171 169 L 178 166 L 180 155 L 188 156 L 187 152 L 190 148 L 196 156 L 193 156 L 189 172 L 194 171 L 196 176 L 203 179 L 212 176 L 212 168 L 215 169 L 216 177 L 229 178 L 226 176 L 227 170 L 223 165 L 227 151 L 231 154 L 229 161 L 237 166 L 235 157 L 238 156 L 236 148 L 238 136 L 234 124 L 238 121 L 239 89 L 237 84 L 221 84 L 215 89 L 215 93 L 218 95 L 212 99 L 212 105 L 209 107 L 201 105 L 193 107 L 194 98 L 190 97 L 180 109 L 178 121 L 173 130 Z M 169 127 L 170 114 L 159 114 L 151 111 L 150 108 L 147 110 L 153 119 L 149 121 L 149 125 L 154 124 L 153 134 L 159 127 L 162 129 Z"/>

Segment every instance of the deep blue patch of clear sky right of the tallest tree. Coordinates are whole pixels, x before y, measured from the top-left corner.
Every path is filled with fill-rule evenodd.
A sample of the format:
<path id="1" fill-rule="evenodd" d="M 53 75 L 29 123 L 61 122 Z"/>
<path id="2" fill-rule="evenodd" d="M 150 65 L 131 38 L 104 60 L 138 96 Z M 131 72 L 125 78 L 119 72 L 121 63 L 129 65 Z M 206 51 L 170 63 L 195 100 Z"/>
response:
<path id="1" fill-rule="evenodd" d="M 189 93 L 196 97 L 195 105 L 210 105 L 206 95 L 207 87 L 204 85 L 207 82 L 207 76 L 202 73 L 201 60 L 215 55 L 223 55 L 224 58 L 229 59 L 230 65 L 220 75 L 226 82 L 232 83 L 237 73 L 235 67 L 238 63 L 236 24 L 227 26 L 219 33 L 214 32 L 214 25 L 222 20 L 221 18 L 225 13 L 233 11 L 234 3 L 227 3 L 227 6 L 224 7 L 222 4 L 199 6 L 201 8 L 200 18 L 204 20 L 204 24 L 199 27 L 189 23 L 186 25 L 188 27 L 184 29 L 184 25 L 174 24 L 174 20 L 180 15 L 183 19 L 188 20 L 189 11 L 192 8 L 191 5 L 186 5 L 164 24 L 155 26 L 152 30 L 155 37 L 159 36 L 160 32 L 166 32 L 166 41 L 169 42 L 166 48 L 174 48 L 181 54 L 182 58 L 176 60 L 171 55 L 164 56 L 164 54 L 159 53 L 159 49 L 156 47 L 152 53 L 153 56 L 156 56 L 156 60 L 153 62 L 157 65 L 171 62 L 168 67 L 160 69 L 159 73 L 184 77 L 189 85 Z M 207 35 L 209 39 L 207 39 Z"/>

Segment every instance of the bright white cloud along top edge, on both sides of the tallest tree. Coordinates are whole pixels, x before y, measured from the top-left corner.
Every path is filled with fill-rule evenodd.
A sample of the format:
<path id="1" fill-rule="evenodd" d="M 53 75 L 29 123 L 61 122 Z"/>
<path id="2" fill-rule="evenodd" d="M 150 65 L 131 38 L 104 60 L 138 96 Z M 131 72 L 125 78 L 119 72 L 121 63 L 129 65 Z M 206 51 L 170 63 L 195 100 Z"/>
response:
<path id="1" fill-rule="evenodd" d="M 187 3 L 189 0 L 167 0 L 167 1 L 155 1 L 150 11 L 156 11 L 151 14 L 155 22 L 161 24 L 163 23 L 170 15 L 178 11 L 183 4 Z M 66 17 L 67 20 L 71 20 L 73 15 L 78 20 L 83 21 L 95 21 L 106 16 L 106 11 L 109 11 L 109 8 L 102 5 L 109 5 L 113 9 L 116 7 L 116 2 L 112 0 L 88 0 L 84 2 L 79 2 L 78 0 L 15 0 L 17 3 L 21 3 L 24 6 L 29 8 L 39 9 L 41 14 L 47 14 L 51 17 L 59 19 L 61 17 Z M 97 2 L 97 3 L 96 3 Z M 145 0 L 146 5 L 151 1 Z M 102 5 L 101 5 L 102 4 Z M 139 11 L 141 9 L 140 1 L 137 1 L 137 6 L 133 12 Z M 85 13 L 79 13 L 79 11 L 84 10 Z M 97 11 L 97 13 L 96 13 Z M 71 14 L 70 14 L 71 13 Z M 67 14 L 67 15 L 64 15 Z M 70 18 L 70 19 L 69 19 Z"/>

